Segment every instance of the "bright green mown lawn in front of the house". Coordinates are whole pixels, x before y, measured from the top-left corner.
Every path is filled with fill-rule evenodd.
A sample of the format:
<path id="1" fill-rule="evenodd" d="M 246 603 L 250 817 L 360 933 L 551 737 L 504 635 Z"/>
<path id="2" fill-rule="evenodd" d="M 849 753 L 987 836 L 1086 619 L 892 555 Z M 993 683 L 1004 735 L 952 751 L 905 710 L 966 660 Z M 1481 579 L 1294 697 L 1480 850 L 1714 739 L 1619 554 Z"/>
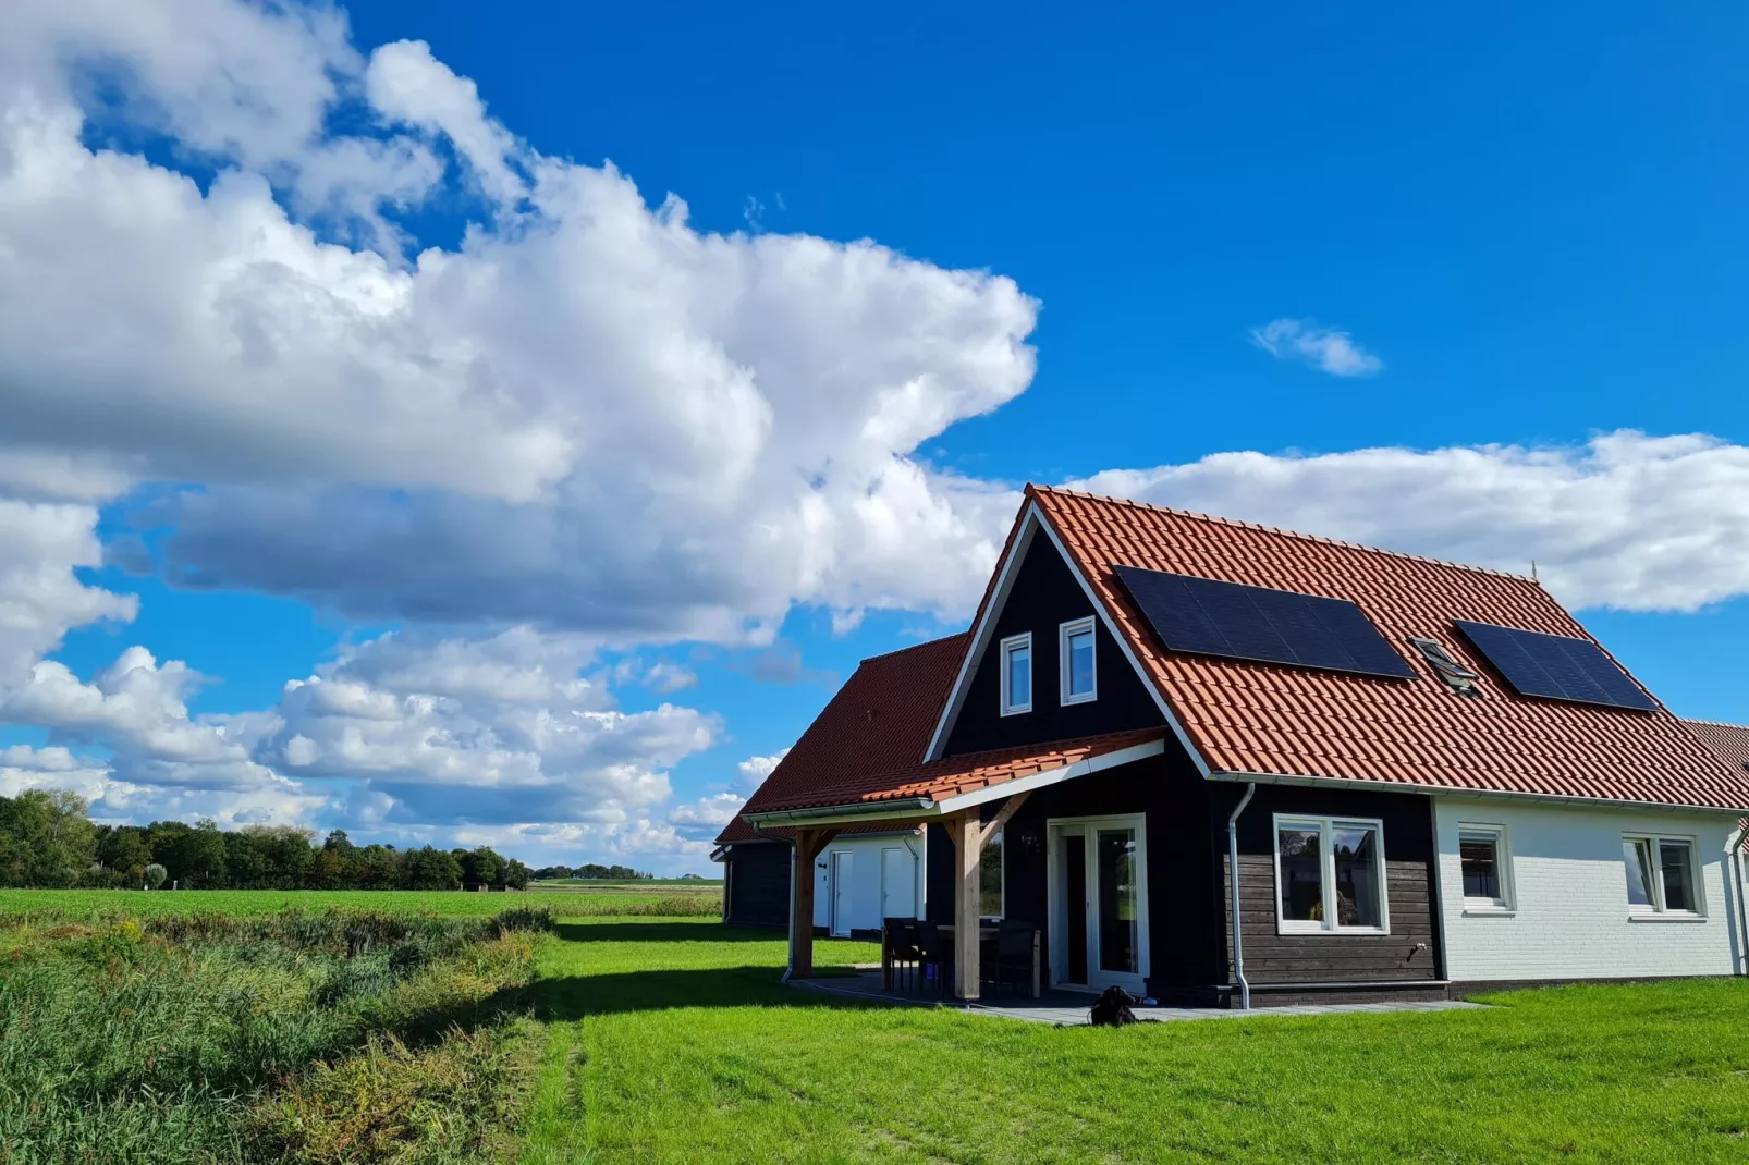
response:
<path id="1" fill-rule="evenodd" d="M 561 924 L 523 1163 L 1749 1162 L 1740 980 L 1111 1030 L 840 1004 L 782 964 L 701 920 Z"/>

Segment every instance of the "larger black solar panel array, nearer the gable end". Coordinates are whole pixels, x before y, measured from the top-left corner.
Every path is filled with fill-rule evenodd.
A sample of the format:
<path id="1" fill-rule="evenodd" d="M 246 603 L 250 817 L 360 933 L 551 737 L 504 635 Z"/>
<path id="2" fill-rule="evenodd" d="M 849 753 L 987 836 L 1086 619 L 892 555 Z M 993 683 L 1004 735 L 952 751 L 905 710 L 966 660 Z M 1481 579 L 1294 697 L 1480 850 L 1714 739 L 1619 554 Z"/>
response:
<path id="1" fill-rule="evenodd" d="M 1415 679 L 1371 619 L 1345 598 L 1139 567 L 1112 570 L 1167 651 Z"/>

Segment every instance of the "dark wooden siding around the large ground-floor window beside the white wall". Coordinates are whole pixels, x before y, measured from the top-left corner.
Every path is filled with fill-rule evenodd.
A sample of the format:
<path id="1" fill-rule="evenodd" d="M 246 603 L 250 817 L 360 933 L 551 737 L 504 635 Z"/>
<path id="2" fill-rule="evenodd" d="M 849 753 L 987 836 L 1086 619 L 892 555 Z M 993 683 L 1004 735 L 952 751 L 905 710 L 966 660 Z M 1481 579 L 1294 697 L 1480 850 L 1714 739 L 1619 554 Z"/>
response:
<path id="1" fill-rule="evenodd" d="M 1231 887 L 1226 876 L 1226 815 L 1242 787 L 1226 787 L 1214 803 L 1219 829 L 1221 952 L 1231 955 Z M 1275 904 L 1275 813 L 1378 819 L 1385 834 L 1389 934 L 1279 934 Z M 1425 796 L 1348 789 L 1258 785 L 1238 822 L 1240 922 L 1245 978 L 1280 983 L 1383 983 L 1439 978 L 1434 922 L 1432 808 Z M 1235 981 L 1223 971 L 1226 981 Z"/>

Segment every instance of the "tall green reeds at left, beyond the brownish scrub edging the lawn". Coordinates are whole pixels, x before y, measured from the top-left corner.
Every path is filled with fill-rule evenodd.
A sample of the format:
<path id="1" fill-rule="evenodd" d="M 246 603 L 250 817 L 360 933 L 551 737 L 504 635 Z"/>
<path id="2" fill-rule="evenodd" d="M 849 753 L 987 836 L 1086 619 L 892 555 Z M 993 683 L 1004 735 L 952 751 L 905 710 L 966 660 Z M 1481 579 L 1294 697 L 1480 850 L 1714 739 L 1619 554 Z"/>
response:
<path id="1" fill-rule="evenodd" d="M 7 920 L 0 1163 L 296 1160 L 278 1095 L 355 1053 L 490 1044 L 551 927 L 537 908 Z"/>

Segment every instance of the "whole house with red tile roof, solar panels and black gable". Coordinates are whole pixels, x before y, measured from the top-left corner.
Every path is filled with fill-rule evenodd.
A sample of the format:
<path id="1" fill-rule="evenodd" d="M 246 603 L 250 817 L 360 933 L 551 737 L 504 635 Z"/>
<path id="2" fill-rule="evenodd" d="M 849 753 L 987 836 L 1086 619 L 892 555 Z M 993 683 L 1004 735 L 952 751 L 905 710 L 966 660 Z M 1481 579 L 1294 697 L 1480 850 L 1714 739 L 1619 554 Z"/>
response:
<path id="1" fill-rule="evenodd" d="M 911 652 L 902 707 L 869 700 Z M 1749 771 L 1534 579 L 1028 486 L 971 631 L 847 693 L 871 666 L 724 834 L 731 887 L 750 838 L 766 887 L 785 855 L 815 871 L 792 918 L 819 924 L 852 831 L 922 827 L 923 915 L 1037 924 L 1063 988 L 1746 971 Z M 792 976 L 812 938 L 791 927 Z M 965 999 L 978 959 L 955 952 Z"/>

